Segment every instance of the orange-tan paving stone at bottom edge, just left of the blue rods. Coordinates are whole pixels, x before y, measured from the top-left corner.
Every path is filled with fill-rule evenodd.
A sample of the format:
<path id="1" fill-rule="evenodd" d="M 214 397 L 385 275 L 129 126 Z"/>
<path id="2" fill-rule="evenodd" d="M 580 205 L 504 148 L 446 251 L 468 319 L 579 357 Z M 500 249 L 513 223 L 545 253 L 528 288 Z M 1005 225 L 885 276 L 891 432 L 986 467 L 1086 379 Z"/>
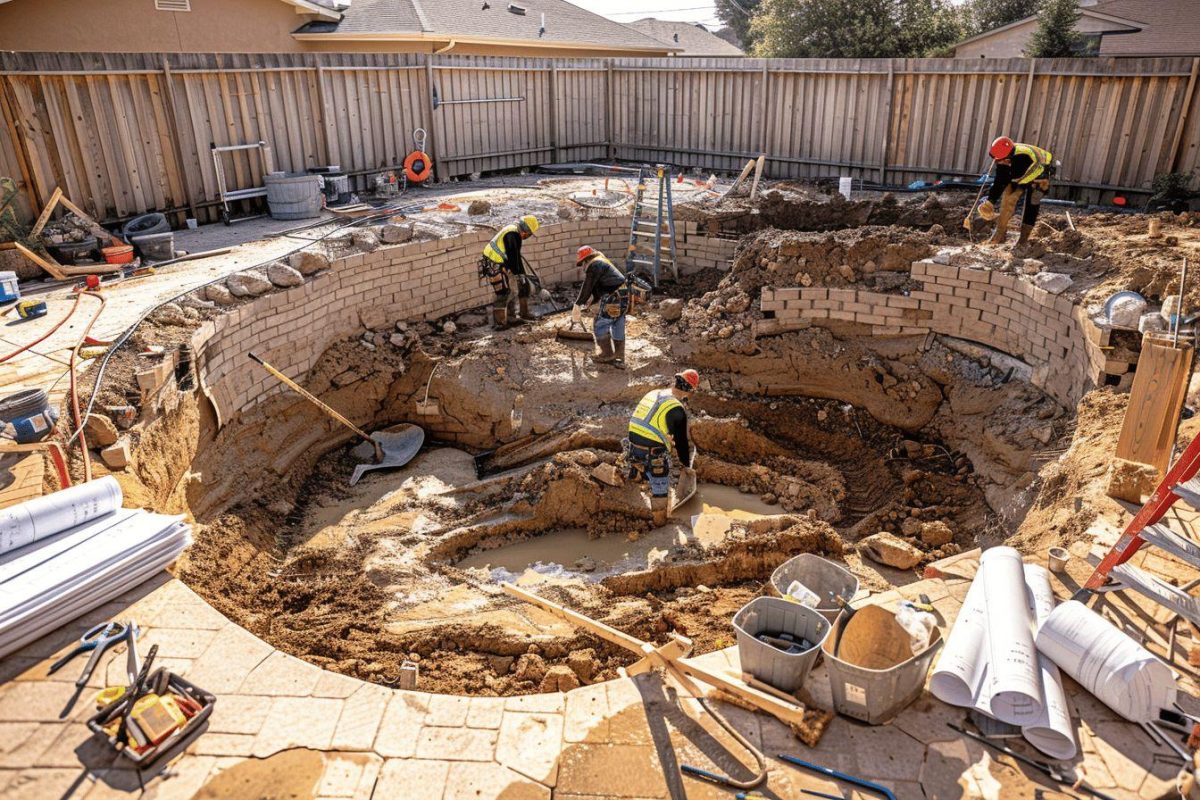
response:
<path id="1" fill-rule="evenodd" d="M 556 792 L 613 798 L 665 798 L 667 783 L 653 745 L 568 746 L 558 762 Z"/>

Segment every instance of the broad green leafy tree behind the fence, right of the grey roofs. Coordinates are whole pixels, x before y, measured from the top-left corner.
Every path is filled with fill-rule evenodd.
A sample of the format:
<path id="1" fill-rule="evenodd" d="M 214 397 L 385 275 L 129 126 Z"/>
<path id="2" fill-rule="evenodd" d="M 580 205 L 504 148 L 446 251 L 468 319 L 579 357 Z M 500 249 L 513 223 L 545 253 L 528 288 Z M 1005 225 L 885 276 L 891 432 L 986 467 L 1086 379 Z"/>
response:
<path id="1" fill-rule="evenodd" d="M 964 32 L 949 0 L 762 0 L 750 30 L 757 56 L 809 59 L 918 58 Z"/>

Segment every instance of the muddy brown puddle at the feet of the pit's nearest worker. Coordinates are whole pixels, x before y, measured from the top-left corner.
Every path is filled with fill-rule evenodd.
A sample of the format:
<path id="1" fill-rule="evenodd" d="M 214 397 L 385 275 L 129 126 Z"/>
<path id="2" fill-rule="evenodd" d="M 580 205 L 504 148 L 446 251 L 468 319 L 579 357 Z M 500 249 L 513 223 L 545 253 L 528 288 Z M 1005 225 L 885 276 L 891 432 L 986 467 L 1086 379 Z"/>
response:
<path id="1" fill-rule="evenodd" d="M 727 525 L 694 528 L 692 522 L 701 515 L 754 519 L 779 512 L 779 506 L 767 505 L 756 495 L 719 483 L 701 483 L 696 494 L 676 510 L 671 522 L 636 541 L 617 534 L 588 539 L 584 529 L 566 528 L 472 553 L 457 566 L 484 570 L 494 582 L 533 583 L 554 578 L 596 582 L 610 575 L 654 569 L 678 547 L 720 545 L 728 533 Z"/>

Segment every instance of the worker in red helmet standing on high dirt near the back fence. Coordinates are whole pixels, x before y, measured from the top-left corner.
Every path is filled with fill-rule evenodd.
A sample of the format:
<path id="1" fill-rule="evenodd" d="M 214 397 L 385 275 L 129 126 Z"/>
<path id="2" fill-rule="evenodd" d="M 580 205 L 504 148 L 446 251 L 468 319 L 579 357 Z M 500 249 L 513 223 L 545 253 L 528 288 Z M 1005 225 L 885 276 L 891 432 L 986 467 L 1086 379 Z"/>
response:
<path id="1" fill-rule="evenodd" d="M 1042 198 L 1050 191 L 1050 179 L 1055 174 L 1054 155 L 1049 150 L 1032 144 L 1013 142 L 1002 136 L 991 143 L 989 151 L 996 160 L 996 179 L 988 190 L 988 199 L 979 204 L 979 216 L 984 219 L 996 219 L 996 203 L 1000 201 L 1000 218 L 996 231 L 988 240 L 989 245 L 1003 245 L 1008 235 L 1008 221 L 1013 218 L 1016 201 L 1025 196 L 1025 210 L 1021 212 L 1021 235 L 1018 247 L 1030 240 L 1033 225 L 1038 222 L 1038 209 Z"/>

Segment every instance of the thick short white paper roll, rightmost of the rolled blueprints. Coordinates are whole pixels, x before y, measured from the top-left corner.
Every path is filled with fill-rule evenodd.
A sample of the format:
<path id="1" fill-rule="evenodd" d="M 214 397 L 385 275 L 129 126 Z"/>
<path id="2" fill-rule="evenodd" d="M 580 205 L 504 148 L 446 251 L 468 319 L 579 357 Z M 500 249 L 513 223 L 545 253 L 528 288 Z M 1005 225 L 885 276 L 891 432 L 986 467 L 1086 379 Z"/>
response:
<path id="1" fill-rule="evenodd" d="M 1175 676 L 1154 654 L 1087 606 L 1069 600 L 1038 632 L 1038 651 L 1132 722 L 1151 722 L 1175 703 Z"/>

